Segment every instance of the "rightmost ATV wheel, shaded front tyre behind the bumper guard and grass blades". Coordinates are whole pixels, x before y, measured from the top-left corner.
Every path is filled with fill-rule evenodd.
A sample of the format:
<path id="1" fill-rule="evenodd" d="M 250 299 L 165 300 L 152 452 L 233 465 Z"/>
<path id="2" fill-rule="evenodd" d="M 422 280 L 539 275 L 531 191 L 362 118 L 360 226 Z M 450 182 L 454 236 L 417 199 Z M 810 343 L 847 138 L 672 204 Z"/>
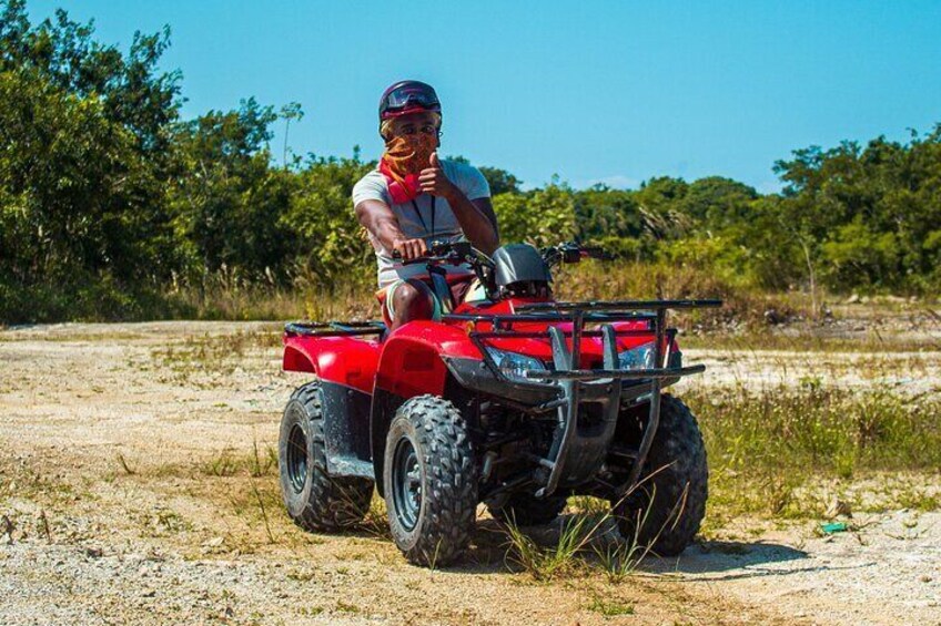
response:
<path id="1" fill-rule="evenodd" d="M 675 556 L 699 531 L 709 471 L 696 418 L 670 394 L 660 399 L 660 424 L 640 476 L 640 485 L 614 502 L 618 528 L 630 542 L 652 544 L 656 554 Z"/>

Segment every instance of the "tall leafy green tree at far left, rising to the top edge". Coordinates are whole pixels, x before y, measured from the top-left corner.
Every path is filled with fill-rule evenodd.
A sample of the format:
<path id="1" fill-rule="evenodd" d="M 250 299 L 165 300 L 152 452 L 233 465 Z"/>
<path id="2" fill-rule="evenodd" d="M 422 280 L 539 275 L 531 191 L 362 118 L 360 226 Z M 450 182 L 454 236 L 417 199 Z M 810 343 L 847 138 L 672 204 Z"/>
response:
<path id="1" fill-rule="evenodd" d="M 166 33 L 138 34 L 122 55 L 64 11 L 38 27 L 21 1 L 0 14 L 3 304 L 26 294 L 40 317 L 124 306 L 122 291 L 153 288 L 179 261 L 166 212 L 176 75 L 156 71 Z"/>

